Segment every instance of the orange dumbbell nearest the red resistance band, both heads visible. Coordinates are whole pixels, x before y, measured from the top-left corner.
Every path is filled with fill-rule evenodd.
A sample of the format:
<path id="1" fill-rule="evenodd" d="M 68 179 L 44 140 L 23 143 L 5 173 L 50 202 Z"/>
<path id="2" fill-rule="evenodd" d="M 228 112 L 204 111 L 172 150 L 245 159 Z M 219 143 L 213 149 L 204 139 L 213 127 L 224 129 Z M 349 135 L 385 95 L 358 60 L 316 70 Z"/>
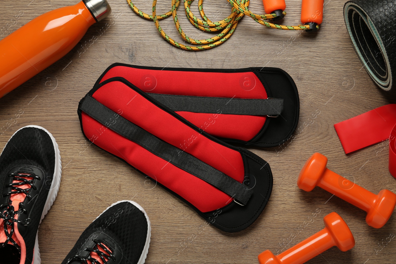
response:
<path id="1" fill-rule="evenodd" d="M 381 228 L 389 220 L 396 205 L 396 194 L 381 190 L 378 195 L 326 168 L 327 158 L 314 153 L 305 163 L 297 180 L 300 189 L 310 192 L 320 188 L 367 212 L 366 222 Z"/>

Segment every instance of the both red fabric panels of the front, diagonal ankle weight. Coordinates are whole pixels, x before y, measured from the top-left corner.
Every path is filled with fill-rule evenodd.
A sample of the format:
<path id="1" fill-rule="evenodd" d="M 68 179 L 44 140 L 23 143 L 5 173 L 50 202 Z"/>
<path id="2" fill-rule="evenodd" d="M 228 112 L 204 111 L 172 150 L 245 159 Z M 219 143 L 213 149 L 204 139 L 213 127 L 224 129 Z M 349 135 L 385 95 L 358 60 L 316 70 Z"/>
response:
<path id="1" fill-rule="evenodd" d="M 238 151 L 204 137 L 168 112 L 155 106 L 126 84 L 119 81 L 110 82 L 95 91 L 93 97 L 163 141 L 184 150 L 239 182 L 243 182 L 244 165 Z M 83 113 L 82 117 L 84 133 L 91 141 L 158 180 L 200 211 L 213 211 L 232 201 L 230 196 L 207 182 L 185 171 L 181 173 L 181 169 L 110 129 L 105 129 L 103 125 L 86 114 Z M 164 166 L 169 168 L 169 173 L 164 173 Z M 191 180 L 192 178 L 194 180 Z"/>

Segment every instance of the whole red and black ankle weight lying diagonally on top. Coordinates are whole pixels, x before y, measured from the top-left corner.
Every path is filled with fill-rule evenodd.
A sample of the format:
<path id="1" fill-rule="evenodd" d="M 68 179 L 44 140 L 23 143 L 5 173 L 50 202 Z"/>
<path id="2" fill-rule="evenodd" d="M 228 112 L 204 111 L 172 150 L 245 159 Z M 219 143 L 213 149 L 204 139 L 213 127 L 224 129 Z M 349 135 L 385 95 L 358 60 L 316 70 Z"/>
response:
<path id="1" fill-rule="evenodd" d="M 272 190 L 267 162 L 185 120 L 124 78 L 97 84 L 79 104 L 82 132 L 227 232 L 260 215 Z"/>

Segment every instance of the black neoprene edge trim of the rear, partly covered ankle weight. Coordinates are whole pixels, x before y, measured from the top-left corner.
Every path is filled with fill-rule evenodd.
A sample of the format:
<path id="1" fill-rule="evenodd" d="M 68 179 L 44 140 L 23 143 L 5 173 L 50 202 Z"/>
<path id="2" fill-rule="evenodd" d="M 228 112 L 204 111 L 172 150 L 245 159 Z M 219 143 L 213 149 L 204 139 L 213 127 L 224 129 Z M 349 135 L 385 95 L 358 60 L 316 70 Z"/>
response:
<path id="1" fill-rule="evenodd" d="M 298 90 L 297 90 L 297 86 L 295 85 L 295 82 L 293 81 L 293 78 L 291 78 L 291 76 L 284 70 L 282 70 L 281 68 L 274 68 L 274 67 L 249 67 L 249 68 L 236 68 L 236 69 L 209 69 L 209 68 L 166 68 L 166 67 L 153 67 L 153 66 L 138 66 L 138 65 L 130 65 L 130 64 L 125 64 L 125 63 L 113 63 L 112 65 L 110 65 L 109 67 L 106 68 L 106 70 L 101 74 L 101 76 L 99 76 L 99 78 L 97 79 L 97 81 L 95 82 L 95 86 L 102 84 L 103 82 L 101 82 L 101 80 L 103 79 L 103 77 L 105 76 L 105 74 L 107 74 L 107 72 L 116 67 L 116 66 L 126 66 L 129 68 L 138 68 L 138 69 L 146 69 L 146 70 L 172 70 L 172 71 L 186 71 L 186 72 L 223 72 L 223 73 L 232 73 L 232 72 L 253 72 L 253 74 L 255 74 L 257 76 L 257 78 L 259 78 L 259 80 L 263 83 L 264 89 L 267 93 L 268 97 L 271 97 L 271 93 L 270 93 L 270 85 L 268 85 L 267 82 L 265 82 L 264 78 L 262 76 L 259 76 L 259 74 L 257 73 L 261 73 L 261 72 L 267 72 L 267 73 L 278 73 L 278 74 L 282 74 L 283 76 L 285 76 L 287 78 L 287 80 L 289 81 L 289 83 L 291 84 L 291 86 L 293 87 L 293 90 L 295 92 L 295 96 L 297 98 L 297 110 L 296 110 L 296 114 L 294 116 L 294 123 L 293 123 L 293 127 L 290 129 L 289 133 L 287 133 L 287 137 L 284 137 L 283 139 L 277 141 L 277 142 L 263 142 L 263 140 L 261 139 L 261 137 L 263 136 L 265 130 L 267 129 L 269 123 L 270 123 L 270 119 L 271 118 L 267 118 L 263 124 L 263 127 L 261 127 L 260 131 L 254 136 L 252 137 L 249 141 L 243 141 L 243 140 L 239 140 L 239 139 L 228 139 L 228 138 L 221 138 L 222 141 L 224 142 L 229 142 L 232 144 L 242 144 L 245 146 L 259 146 L 259 147 L 273 147 L 273 146 L 279 146 L 280 144 L 284 143 L 285 141 L 287 141 L 287 139 L 289 139 L 291 137 L 291 135 L 293 134 L 295 128 L 297 127 L 298 124 L 298 120 L 299 120 L 299 109 L 300 109 L 300 102 L 299 102 L 299 95 L 298 95 Z M 116 77 L 113 77 L 116 78 Z M 110 78 L 111 79 L 111 78 Z M 109 80 L 109 79 L 107 79 Z"/>

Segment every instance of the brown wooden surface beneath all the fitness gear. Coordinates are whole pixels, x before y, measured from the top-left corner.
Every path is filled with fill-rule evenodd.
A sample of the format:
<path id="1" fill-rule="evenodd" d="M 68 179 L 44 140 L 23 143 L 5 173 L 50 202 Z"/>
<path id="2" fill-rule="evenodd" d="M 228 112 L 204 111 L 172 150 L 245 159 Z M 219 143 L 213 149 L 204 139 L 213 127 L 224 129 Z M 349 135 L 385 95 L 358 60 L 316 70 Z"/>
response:
<path id="1" fill-rule="evenodd" d="M 77 2 L 30 1 L 2 1 L 0 39 L 44 12 Z M 198 15 L 198 1 L 194 2 L 192 11 Z M 89 223 L 123 199 L 139 203 L 150 218 L 148 264 L 258 263 L 262 251 L 280 253 L 321 230 L 322 218 L 333 211 L 352 230 L 356 246 L 348 252 L 333 247 L 307 263 L 396 263 L 395 215 L 383 228 L 374 229 L 365 222 L 366 212 L 320 188 L 307 193 L 296 184 L 308 157 L 321 152 L 329 159 L 329 169 L 356 184 L 376 194 L 384 188 L 396 192 L 396 181 L 388 171 L 388 142 L 345 155 L 333 127 L 396 103 L 394 93 L 381 91 L 373 83 L 352 47 L 343 18 L 345 0 L 325 1 L 324 22 L 317 33 L 270 29 L 244 17 L 225 44 L 200 52 L 168 44 L 154 23 L 138 17 L 125 0 L 109 3 L 111 15 L 91 26 L 63 59 L 0 99 L 0 148 L 17 129 L 34 124 L 48 129 L 61 151 L 59 194 L 39 229 L 43 264 L 60 263 Z M 150 1 L 135 4 L 147 12 L 151 9 Z M 226 0 L 204 1 L 204 8 L 213 21 L 230 12 Z M 261 0 L 251 0 L 250 8 L 264 12 Z M 169 0 L 158 1 L 157 13 L 169 9 Z M 284 24 L 298 25 L 300 9 L 301 0 L 288 1 Z M 191 37 L 210 36 L 190 25 L 182 7 L 179 20 Z M 171 18 L 160 23 L 165 32 L 181 40 Z M 178 198 L 84 139 L 78 101 L 115 62 L 195 68 L 273 66 L 291 75 L 300 95 L 299 132 L 282 146 L 249 149 L 270 163 L 274 175 L 269 203 L 249 228 L 229 234 L 208 225 Z M 15 114 L 19 114 L 17 123 L 10 121 Z"/>

